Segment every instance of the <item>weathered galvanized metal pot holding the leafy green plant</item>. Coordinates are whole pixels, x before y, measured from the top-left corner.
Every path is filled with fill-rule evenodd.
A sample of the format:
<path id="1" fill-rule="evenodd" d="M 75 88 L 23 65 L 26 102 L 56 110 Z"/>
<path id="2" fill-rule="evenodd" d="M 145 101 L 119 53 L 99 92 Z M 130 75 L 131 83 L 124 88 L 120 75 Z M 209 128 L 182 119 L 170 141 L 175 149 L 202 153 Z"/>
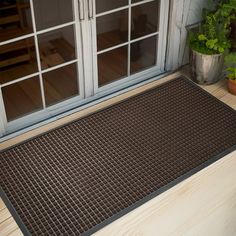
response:
<path id="1" fill-rule="evenodd" d="M 205 55 L 190 50 L 192 79 L 198 84 L 214 84 L 223 78 L 224 55 Z"/>

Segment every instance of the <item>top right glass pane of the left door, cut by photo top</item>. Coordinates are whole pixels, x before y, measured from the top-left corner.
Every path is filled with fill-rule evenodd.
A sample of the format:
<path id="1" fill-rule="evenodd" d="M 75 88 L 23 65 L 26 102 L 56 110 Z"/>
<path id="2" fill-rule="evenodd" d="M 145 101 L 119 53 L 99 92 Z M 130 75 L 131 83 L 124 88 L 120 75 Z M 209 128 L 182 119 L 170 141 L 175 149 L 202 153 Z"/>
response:
<path id="1" fill-rule="evenodd" d="M 72 0 L 33 0 L 37 30 L 73 21 Z"/>

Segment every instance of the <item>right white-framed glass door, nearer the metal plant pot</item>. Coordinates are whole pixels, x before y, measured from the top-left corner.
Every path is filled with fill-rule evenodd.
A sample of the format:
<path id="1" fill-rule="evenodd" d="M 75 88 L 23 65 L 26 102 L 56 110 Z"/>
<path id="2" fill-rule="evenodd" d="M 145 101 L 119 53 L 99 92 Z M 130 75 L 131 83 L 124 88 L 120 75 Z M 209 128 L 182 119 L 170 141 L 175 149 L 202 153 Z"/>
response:
<path id="1" fill-rule="evenodd" d="M 164 71 L 168 1 L 96 0 L 95 93 Z"/>

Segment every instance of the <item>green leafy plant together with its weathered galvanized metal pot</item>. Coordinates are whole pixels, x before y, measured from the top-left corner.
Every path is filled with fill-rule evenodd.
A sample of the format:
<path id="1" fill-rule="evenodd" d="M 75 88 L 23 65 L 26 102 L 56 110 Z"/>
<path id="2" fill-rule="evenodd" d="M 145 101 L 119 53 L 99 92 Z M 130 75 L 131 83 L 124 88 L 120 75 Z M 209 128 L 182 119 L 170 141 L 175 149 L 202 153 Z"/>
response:
<path id="1" fill-rule="evenodd" d="M 226 9 L 226 10 L 225 10 Z M 203 20 L 189 30 L 192 78 L 199 84 L 213 84 L 223 78 L 224 53 L 230 48 L 231 15 L 224 3 L 203 10 Z"/>

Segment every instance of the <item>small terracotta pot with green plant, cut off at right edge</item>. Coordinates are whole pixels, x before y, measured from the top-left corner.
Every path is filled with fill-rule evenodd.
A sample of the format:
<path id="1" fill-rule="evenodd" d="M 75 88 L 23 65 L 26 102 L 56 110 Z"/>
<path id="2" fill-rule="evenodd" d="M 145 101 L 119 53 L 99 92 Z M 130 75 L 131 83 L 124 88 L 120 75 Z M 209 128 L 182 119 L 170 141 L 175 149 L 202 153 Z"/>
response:
<path id="1" fill-rule="evenodd" d="M 236 53 L 230 53 L 225 57 L 226 73 L 228 79 L 228 90 L 236 95 Z"/>

